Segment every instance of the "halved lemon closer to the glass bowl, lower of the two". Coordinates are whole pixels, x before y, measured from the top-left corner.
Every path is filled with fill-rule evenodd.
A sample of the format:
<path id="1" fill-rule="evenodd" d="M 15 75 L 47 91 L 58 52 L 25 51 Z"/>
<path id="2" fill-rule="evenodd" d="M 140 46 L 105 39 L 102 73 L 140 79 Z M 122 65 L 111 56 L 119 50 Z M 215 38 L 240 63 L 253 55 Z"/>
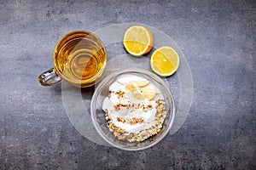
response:
<path id="1" fill-rule="evenodd" d="M 151 55 L 150 65 L 152 70 L 161 77 L 171 76 L 177 71 L 179 56 L 171 47 L 161 47 Z"/>

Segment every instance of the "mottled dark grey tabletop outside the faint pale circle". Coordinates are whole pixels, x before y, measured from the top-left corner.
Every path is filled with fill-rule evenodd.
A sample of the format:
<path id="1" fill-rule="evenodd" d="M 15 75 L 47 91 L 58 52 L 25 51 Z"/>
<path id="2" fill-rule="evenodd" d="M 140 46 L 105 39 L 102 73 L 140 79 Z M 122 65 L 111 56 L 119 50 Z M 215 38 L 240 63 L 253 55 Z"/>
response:
<path id="1" fill-rule="evenodd" d="M 0 169 L 256 168 L 255 1 L 2 0 L 0 17 Z M 37 80 L 67 32 L 126 22 L 172 37 L 194 81 L 183 127 L 137 152 L 85 139 L 67 118 L 61 84 Z"/>

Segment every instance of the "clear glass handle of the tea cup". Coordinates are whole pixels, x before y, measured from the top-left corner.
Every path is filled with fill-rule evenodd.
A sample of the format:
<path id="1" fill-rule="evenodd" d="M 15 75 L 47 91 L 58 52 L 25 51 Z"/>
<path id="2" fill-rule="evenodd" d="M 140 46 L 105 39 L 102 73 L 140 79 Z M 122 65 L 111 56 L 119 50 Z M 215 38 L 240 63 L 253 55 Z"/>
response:
<path id="1" fill-rule="evenodd" d="M 55 73 L 55 69 L 49 69 L 38 77 L 38 81 L 43 86 L 53 86 L 58 82 L 61 82 L 62 78 Z"/>

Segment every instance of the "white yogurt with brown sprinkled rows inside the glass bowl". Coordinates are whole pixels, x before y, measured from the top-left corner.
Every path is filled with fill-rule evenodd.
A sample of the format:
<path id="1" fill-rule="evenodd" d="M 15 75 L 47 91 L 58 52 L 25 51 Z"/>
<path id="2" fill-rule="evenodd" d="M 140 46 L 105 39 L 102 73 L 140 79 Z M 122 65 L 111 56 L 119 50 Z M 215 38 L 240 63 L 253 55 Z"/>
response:
<path id="1" fill-rule="evenodd" d="M 149 127 L 155 126 L 156 100 L 163 99 L 162 94 L 156 94 L 154 99 L 136 99 L 134 94 L 141 93 L 140 90 L 131 92 L 125 85 L 131 81 L 147 81 L 143 77 L 125 75 L 113 82 L 109 87 L 111 92 L 102 104 L 102 109 L 108 111 L 108 116 L 113 124 L 124 129 L 127 133 L 143 133 Z M 160 90 L 150 82 L 147 88 L 154 91 Z M 120 119 L 126 120 L 121 122 Z M 137 119 L 141 122 L 131 123 L 129 120 Z"/>

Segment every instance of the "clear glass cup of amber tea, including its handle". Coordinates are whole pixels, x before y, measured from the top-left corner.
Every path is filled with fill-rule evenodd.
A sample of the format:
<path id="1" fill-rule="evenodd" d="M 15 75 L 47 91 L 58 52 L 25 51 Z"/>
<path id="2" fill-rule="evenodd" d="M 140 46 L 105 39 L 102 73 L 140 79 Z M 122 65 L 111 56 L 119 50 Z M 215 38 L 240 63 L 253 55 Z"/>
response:
<path id="1" fill-rule="evenodd" d="M 86 88 L 101 80 L 107 64 L 107 51 L 100 38 L 89 31 L 73 31 L 55 46 L 55 67 L 38 77 L 44 86 L 62 79 L 74 86 Z"/>

